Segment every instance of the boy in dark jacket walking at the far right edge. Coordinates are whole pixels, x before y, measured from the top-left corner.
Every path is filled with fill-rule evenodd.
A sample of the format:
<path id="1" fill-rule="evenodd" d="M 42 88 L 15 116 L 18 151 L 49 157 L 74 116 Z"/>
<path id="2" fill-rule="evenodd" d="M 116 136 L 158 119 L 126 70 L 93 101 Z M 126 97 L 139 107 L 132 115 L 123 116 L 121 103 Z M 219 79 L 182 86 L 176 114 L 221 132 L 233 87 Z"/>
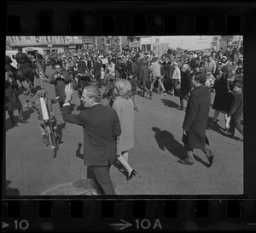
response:
<path id="1" fill-rule="evenodd" d="M 230 129 L 227 131 L 227 136 L 232 139 L 235 135 L 235 128 L 243 135 L 243 126 L 241 125 L 241 117 L 243 115 L 242 88 L 241 80 L 233 84 L 233 99 L 227 115 L 227 117 L 230 117 Z"/>

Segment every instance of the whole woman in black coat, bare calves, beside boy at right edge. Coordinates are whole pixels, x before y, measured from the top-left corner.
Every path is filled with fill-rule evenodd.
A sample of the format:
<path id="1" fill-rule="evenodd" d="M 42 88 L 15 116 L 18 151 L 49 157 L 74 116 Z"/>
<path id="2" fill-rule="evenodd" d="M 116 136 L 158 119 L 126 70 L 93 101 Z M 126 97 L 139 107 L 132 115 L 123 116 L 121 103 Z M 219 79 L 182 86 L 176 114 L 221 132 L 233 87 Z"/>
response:
<path id="1" fill-rule="evenodd" d="M 230 94 L 230 77 L 232 72 L 224 72 L 218 76 L 214 82 L 213 88 L 215 89 L 215 98 L 213 101 L 212 109 L 214 109 L 213 125 L 217 124 L 218 115 L 220 112 L 224 113 L 225 131 L 230 128 L 230 117 L 227 116 L 227 111 L 230 110 L 232 95 Z"/>

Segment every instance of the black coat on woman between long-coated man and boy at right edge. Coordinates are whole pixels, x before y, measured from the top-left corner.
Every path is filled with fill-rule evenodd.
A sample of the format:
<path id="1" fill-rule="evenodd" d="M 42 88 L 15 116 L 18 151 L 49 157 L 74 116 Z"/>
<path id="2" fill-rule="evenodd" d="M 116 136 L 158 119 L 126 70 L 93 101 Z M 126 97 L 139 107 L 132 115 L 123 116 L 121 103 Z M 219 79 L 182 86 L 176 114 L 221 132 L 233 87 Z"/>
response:
<path id="1" fill-rule="evenodd" d="M 215 80 L 213 85 L 213 88 L 215 89 L 215 98 L 212 109 L 218 111 L 230 110 L 232 94 L 230 94 L 229 85 L 229 81 L 224 77 Z"/>

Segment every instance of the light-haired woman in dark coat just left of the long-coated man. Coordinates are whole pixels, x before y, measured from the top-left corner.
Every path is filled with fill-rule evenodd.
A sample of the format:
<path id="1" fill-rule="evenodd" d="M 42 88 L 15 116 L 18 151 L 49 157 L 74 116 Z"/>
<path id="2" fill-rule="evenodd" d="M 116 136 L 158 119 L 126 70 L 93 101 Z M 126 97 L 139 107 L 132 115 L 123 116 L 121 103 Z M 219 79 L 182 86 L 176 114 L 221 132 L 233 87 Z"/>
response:
<path id="1" fill-rule="evenodd" d="M 190 67 L 188 64 L 184 64 L 181 67 L 181 87 L 178 91 L 180 107 L 179 110 L 184 110 L 183 99 L 189 100 L 189 93 L 191 91 L 191 78 L 190 78 Z"/>

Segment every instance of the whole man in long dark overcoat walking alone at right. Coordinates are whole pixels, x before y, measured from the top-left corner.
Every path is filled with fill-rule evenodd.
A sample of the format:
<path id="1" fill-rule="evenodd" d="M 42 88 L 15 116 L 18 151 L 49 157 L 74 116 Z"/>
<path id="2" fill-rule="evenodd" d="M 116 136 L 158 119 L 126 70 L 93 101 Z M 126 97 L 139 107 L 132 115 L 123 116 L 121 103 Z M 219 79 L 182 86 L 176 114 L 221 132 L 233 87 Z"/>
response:
<path id="1" fill-rule="evenodd" d="M 207 156 L 209 167 L 212 165 L 213 155 L 206 147 L 209 142 L 206 137 L 208 115 L 211 106 L 211 94 L 204 83 L 207 76 L 202 71 L 196 71 L 191 79 L 192 87 L 187 105 L 186 115 L 183 122 L 183 143 L 186 157 L 178 162 L 192 165 L 193 149 L 201 149 Z"/>

